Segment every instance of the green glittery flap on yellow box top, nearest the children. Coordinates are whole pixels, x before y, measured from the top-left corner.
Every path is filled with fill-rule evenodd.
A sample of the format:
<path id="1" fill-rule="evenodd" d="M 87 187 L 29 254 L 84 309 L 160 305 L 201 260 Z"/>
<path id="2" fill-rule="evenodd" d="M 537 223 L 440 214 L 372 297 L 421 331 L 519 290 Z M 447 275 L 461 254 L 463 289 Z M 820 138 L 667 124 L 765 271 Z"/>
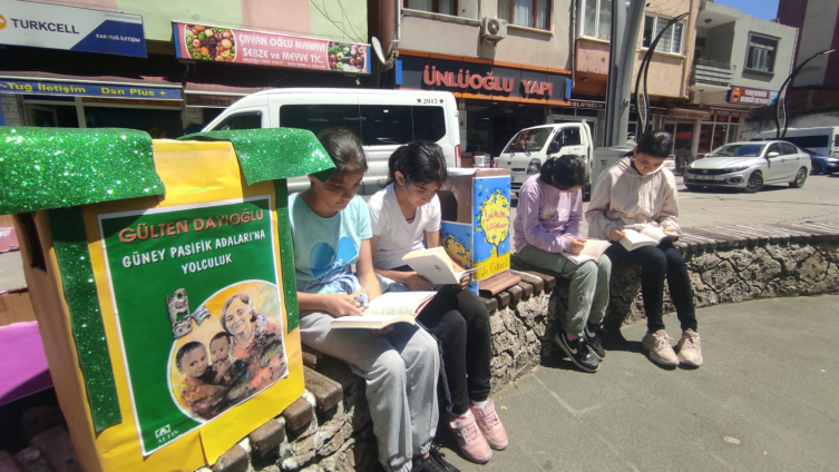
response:
<path id="1" fill-rule="evenodd" d="M 237 129 L 187 135 L 183 140 L 231 141 L 247 185 L 309 174 L 325 180 L 335 169 L 312 131 L 294 128 Z"/>

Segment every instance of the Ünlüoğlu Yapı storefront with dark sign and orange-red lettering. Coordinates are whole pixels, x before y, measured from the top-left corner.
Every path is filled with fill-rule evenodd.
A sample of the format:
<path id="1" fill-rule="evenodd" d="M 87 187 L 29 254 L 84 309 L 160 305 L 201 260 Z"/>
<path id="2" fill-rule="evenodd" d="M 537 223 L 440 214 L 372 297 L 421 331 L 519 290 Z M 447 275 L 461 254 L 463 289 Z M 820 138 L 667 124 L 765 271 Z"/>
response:
<path id="1" fill-rule="evenodd" d="M 520 129 L 554 122 L 553 110 L 570 106 L 570 71 L 428 52 L 400 50 L 387 85 L 452 92 L 461 147 L 490 156 Z"/>

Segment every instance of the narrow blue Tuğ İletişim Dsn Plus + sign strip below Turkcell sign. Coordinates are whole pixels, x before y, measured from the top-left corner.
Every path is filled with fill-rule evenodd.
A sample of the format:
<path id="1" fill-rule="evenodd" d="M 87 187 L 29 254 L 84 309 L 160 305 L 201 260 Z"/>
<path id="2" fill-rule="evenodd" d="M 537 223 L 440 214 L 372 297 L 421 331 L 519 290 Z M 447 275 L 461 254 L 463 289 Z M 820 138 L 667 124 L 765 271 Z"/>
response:
<path id="1" fill-rule="evenodd" d="M 113 97 L 148 100 L 181 100 L 181 89 L 99 83 L 51 82 L 42 80 L 0 80 L 0 92 L 57 97 Z"/>

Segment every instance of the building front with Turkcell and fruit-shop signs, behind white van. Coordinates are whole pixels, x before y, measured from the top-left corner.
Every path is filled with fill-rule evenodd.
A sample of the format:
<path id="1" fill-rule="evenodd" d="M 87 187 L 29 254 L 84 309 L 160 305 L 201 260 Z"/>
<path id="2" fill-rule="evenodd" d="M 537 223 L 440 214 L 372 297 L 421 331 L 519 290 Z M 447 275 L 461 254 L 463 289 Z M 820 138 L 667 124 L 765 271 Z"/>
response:
<path id="1" fill-rule="evenodd" d="M 363 0 L 13 1 L 0 16 L 6 125 L 175 138 L 264 88 L 370 82 Z M 332 60 L 343 48 L 358 65 Z"/>

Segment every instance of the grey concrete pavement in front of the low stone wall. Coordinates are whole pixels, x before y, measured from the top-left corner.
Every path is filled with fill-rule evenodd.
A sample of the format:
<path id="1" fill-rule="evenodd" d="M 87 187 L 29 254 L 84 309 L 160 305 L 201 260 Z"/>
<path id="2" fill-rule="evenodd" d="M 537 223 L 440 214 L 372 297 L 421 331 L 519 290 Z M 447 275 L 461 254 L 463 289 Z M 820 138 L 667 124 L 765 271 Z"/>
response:
<path id="1" fill-rule="evenodd" d="M 495 395 L 510 446 L 487 465 L 443 451 L 464 471 L 836 470 L 838 307 L 820 296 L 702 308 L 699 370 L 658 367 L 642 354 L 646 327 L 625 326 L 597 374 L 556 358 Z M 665 323 L 681 335 L 675 316 Z"/>

